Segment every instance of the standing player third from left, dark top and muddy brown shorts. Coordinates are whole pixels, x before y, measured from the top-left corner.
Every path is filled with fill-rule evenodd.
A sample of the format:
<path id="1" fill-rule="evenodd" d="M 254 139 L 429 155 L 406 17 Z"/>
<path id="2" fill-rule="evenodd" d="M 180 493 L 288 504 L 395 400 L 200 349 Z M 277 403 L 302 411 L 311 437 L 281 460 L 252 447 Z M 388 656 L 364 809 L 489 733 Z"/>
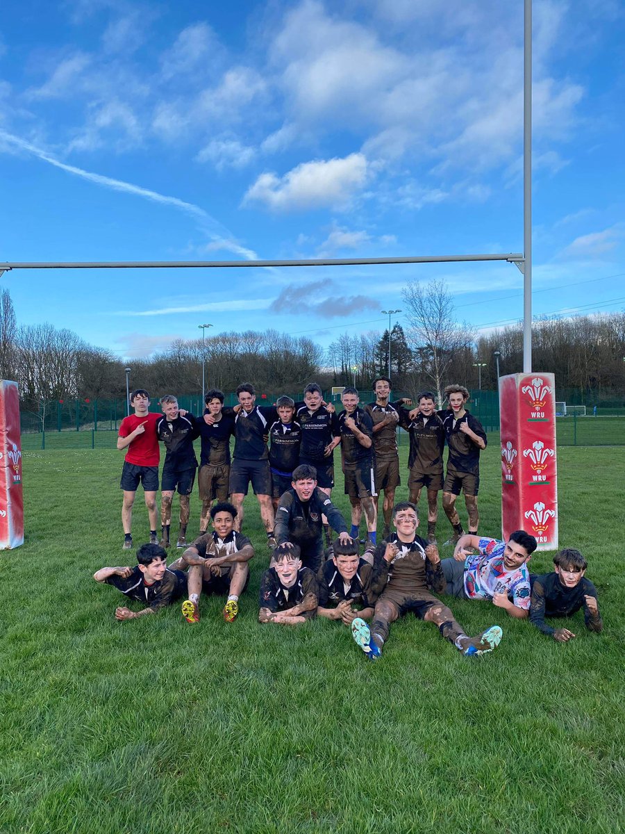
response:
<path id="1" fill-rule="evenodd" d="M 230 438 L 234 434 L 234 411 L 223 408 L 223 391 L 212 388 L 204 397 L 208 420 L 197 420 L 200 432 L 198 490 L 202 501 L 200 535 L 208 530 L 213 501 L 228 500 Z"/>

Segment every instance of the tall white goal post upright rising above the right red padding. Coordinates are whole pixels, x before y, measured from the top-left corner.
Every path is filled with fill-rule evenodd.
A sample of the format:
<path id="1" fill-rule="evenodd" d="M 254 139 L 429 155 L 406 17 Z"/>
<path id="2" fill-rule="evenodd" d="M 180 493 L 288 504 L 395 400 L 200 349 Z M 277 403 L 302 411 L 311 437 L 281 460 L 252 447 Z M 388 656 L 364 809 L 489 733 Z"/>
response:
<path id="1" fill-rule="evenodd" d="M 532 0 L 523 16 L 523 373 L 532 373 Z"/>

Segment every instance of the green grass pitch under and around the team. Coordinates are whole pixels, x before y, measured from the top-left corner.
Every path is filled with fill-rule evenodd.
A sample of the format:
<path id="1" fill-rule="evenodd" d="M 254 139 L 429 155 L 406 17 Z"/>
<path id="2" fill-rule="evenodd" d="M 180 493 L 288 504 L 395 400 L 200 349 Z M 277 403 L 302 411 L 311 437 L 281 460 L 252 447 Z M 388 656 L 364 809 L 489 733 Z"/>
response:
<path id="1" fill-rule="evenodd" d="M 481 530 L 498 535 L 494 440 Z M 497 652 L 464 658 L 408 615 L 372 664 L 338 623 L 258 624 L 268 551 L 252 501 L 258 555 L 233 625 L 219 599 L 197 626 L 178 607 L 118 623 L 121 595 L 92 573 L 128 559 L 121 453 L 26 451 L 26 542 L 0 555 L 0 831 L 622 831 L 625 450 L 558 455 L 561 544 L 587 556 L 602 636 L 577 615 L 577 639 L 558 645 L 453 600 L 470 633 L 502 625 Z M 133 526 L 146 540 L 139 496 Z"/>

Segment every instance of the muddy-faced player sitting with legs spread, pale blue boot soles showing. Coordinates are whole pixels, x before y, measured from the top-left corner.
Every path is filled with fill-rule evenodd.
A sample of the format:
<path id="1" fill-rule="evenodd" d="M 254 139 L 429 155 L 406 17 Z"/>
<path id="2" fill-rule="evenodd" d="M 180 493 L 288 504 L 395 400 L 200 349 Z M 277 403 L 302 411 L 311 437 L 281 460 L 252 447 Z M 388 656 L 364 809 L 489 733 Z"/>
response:
<path id="1" fill-rule="evenodd" d="M 445 575 L 436 545 L 417 535 L 419 524 L 415 505 L 403 501 L 393 510 L 397 532 L 378 546 L 373 562 L 373 592 L 379 594 L 371 629 L 357 617 L 352 633 L 370 660 L 376 660 L 388 639 L 390 624 L 413 611 L 419 620 L 432 622 L 463 655 L 482 655 L 493 651 L 502 630 L 493 625 L 477 637 L 469 637 L 453 618 L 447 605 L 432 591 L 445 590 Z"/>

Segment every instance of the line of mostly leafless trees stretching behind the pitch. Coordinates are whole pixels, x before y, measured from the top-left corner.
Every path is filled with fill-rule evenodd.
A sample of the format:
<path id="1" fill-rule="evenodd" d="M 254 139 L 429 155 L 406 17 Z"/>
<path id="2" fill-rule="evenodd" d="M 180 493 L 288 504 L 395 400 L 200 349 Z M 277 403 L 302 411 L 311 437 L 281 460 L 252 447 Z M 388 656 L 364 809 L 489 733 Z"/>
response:
<path id="1" fill-rule="evenodd" d="M 251 380 L 267 394 L 296 392 L 312 379 L 324 388 L 355 380 L 358 388 L 369 390 L 377 375 L 388 374 L 389 344 L 393 388 L 410 394 L 425 388 L 440 394 L 449 382 L 475 389 L 478 362 L 485 363 L 483 389 L 496 389 L 496 352 L 501 374 L 522 369 L 522 324 L 476 339 L 468 324 L 455 319 L 443 282 L 427 287 L 409 282 L 403 304 L 406 329 L 396 323 L 390 334 L 388 329 L 341 334 L 325 350 L 312 339 L 277 330 L 216 334 L 204 348 L 202 339 L 178 339 L 162 353 L 133 359 L 131 385 L 155 395 L 199 394 L 203 349 L 207 389 L 232 391 Z M 556 374 L 558 399 L 622 400 L 625 312 L 540 319 L 533 324 L 532 343 L 533 366 Z M 124 368 L 110 351 L 87 344 L 71 330 L 52 324 L 18 326 L 10 294 L 0 291 L 0 373 L 2 379 L 17 379 L 24 409 L 45 416 L 47 403 L 58 399 L 122 399 Z"/>

